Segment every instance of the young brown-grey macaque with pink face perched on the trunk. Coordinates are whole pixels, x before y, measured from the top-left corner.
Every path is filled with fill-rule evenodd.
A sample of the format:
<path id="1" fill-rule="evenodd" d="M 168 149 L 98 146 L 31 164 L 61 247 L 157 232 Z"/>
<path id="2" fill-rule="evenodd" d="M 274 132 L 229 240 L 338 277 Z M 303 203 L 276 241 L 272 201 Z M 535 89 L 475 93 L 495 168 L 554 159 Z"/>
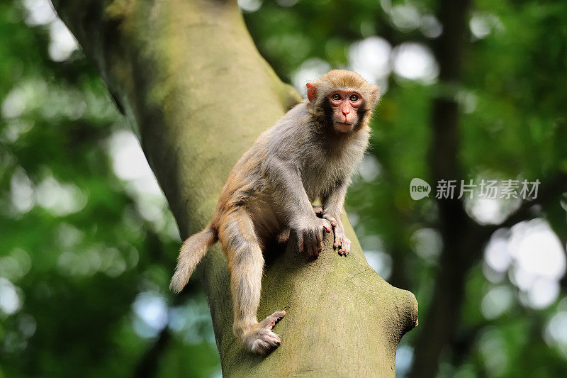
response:
<path id="1" fill-rule="evenodd" d="M 181 291 L 207 248 L 220 240 L 230 268 L 235 335 L 259 354 L 280 345 L 272 328 L 286 314 L 276 311 L 257 321 L 264 246 L 293 233 L 301 252 L 316 258 L 323 234 L 333 232 L 338 254 L 349 254 L 342 207 L 368 145 L 378 87 L 355 72 L 333 70 L 307 84 L 307 97 L 237 162 L 213 221 L 183 243 L 170 286 Z M 315 199 L 322 208 L 311 205 Z"/>

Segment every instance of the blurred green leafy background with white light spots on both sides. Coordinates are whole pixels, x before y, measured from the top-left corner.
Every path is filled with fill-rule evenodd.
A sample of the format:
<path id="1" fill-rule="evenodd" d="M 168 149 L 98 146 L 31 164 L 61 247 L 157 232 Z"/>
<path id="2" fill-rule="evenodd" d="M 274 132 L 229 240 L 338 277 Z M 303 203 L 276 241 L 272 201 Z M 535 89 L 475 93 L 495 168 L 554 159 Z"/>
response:
<path id="1" fill-rule="evenodd" d="M 432 101 L 448 91 L 433 52 L 439 2 L 238 4 L 262 55 L 302 93 L 335 67 L 381 87 L 347 211 L 371 266 L 420 303 L 421 324 L 398 348 L 404 377 L 428 357 L 415 345 L 442 274 L 428 163 Z M 544 189 L 567 172 L 567 6 L 478 0 L 466 26 L 462 82 L 449 90 L 463 178 L 539 179 Z M 198 282 L 179 297 L 168 289 L 180 240 L 162 191 L 47 0 L 0 3 L 0 117 L 0 377 L 220 376 Z M 414 177 L 432 184 L 428 198 L 410 198 Z M 567 197 L 541 193 L 467 262 L 439 376 L 567 372 Z M 480 227 L 521 206 L 464 199 Z"/>

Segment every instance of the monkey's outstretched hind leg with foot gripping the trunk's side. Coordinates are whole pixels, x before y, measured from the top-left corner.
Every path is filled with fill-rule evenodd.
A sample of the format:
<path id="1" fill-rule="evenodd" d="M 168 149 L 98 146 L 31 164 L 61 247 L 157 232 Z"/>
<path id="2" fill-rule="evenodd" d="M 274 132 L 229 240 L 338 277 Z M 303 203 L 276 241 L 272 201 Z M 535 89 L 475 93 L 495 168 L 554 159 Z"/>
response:
<path id="1" fill-rule="evenodd" d="M 281 343 L 272 328 L 286 315 L 286 311 L 276 311 L 264 321 L 257 321 L 264 257 L 249 214 L 244 209 L 238 209 L 227 216 L 220 228 L 219 238 L 230 268 L 235 335 L 248 350 L 266 354 Z"/>

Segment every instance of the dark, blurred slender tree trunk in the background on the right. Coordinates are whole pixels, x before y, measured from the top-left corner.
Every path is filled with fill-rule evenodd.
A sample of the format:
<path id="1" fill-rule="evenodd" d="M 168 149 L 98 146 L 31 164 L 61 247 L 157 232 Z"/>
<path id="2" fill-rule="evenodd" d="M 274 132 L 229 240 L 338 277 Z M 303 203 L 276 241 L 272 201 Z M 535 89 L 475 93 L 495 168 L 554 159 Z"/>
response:
<path id="1" fill-rule="evenodd" d="M 463 178 L 459 162 L 459 104 L 462 60 L 466 48 L 467 14 L 471 0 L 440 0 L 437 17 L 443 33 L 433 44 L 439 62 L 439 82 L 445 91 L 432 106 L 431 177 L 439 180 Z M 459 181 L 457 181 L 459 182 Z M 484 240 L 476 238 L 475 223 L 466 215 L 463 201 L 437 199 L 439 231 L 443 247 L 427 320 L 415 343 L 410 378 L 434 378 L 444 348 L 459 326 L 466 274 L 478 261 Z"/>

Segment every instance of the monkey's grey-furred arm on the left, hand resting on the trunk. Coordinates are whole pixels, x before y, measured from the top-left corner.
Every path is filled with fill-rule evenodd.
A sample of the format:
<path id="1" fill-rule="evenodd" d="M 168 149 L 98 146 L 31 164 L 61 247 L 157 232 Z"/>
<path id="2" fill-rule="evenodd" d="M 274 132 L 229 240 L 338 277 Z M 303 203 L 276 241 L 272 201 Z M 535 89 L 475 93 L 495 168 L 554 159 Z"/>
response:
<path id="1" fill-rule="evenodd" d="M 330 233 L 332 227 L 326 219 L 315 216 L 299 172 L 276 158 L 266 162 L 264 172 L 276 207 L 297 235 L 299 249 L 311 257 L 318 257 L 322 250 L 323 232 Z"/>

